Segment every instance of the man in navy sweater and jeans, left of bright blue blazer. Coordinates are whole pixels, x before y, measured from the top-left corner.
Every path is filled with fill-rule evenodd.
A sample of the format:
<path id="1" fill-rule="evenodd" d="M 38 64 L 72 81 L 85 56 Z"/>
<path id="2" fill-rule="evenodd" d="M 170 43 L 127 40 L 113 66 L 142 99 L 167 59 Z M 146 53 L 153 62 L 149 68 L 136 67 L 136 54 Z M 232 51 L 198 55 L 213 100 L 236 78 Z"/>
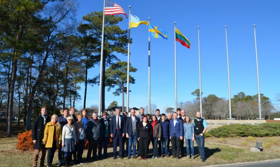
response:
<path id="1" fill-rule="evenodd" d="M 165 152 L 165 156 L 169 158 L 169 122 L 165 121 L 165 114 L 161 114 L 161 131 L 162 131 L 162 139 L 161 139 L 161 157 L 163 157 L 163 153 Z M 164 149 L 163 149 L 164 146 Z"/>

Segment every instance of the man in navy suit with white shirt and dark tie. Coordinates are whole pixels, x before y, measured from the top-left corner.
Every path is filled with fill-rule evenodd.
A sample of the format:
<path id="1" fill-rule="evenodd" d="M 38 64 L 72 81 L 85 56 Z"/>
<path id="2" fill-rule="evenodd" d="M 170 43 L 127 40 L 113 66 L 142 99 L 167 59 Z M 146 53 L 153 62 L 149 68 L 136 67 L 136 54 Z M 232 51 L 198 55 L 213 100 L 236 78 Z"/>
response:
<path id="1" fill-rule="evenodd" d="M 111 125 L 110 125 L 110 133 L 111 137 L 113 137 L 113 157 L 114 160 L 117 159 L 117 143 L 119 142 L 120 147 L 120 158 L 124 159 L 122 157 L 122 137 L 124 136 L 125 130 L 124 130 L 124 117 L 120 115 L 121 110 L 119 108 L 116 109 L 116 115 L 111 117 Z"/>

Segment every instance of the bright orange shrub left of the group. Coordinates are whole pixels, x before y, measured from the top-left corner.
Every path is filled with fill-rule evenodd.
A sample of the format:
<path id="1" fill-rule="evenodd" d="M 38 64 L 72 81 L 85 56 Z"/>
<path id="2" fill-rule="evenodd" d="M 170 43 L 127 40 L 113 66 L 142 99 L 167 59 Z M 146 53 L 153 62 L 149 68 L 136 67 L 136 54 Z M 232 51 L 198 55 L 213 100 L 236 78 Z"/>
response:
<path id="1" fill-rule="evenodd" d="M 18 133 L 18 144 L 16 147 L 18 147 L 18 150 L 23 151 L 33 149 L 32 130 Z"/>

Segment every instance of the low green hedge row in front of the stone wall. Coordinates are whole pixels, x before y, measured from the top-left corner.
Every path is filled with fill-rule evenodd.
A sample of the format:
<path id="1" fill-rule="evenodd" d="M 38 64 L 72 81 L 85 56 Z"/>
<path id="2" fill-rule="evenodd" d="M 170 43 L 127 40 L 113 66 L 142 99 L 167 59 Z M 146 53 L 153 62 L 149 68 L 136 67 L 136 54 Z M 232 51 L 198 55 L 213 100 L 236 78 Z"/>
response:
<path id="1" fill-rule="evenodd" d="M 265 136 L 280 136 L 279 123 L 265 123 L 260 125 L 224 125 L 219 128 L 214 128 L 209 131 L 215 137 L 265 137 Z"/>

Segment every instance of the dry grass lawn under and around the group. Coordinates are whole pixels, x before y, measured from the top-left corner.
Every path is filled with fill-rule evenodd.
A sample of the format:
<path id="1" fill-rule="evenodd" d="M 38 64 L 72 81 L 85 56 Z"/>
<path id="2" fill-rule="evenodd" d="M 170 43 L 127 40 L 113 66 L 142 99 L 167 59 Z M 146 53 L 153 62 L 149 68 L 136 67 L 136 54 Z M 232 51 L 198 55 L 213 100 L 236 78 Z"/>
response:
<path id="1" fill-rule="evenodd" d="M 256 141 L 260 141 L 264 144 L 268 140 L 279 141 L 280 137 L 265 137 L 255 139 Z M 195 143 L 194 160 L 187 159 L 186 157 L 183 157 L 180 160 L 166 157 L 151 159 L 152 145 L 150 145 L 150 158 L 148 158 L 147 161 L 140 161 L 139 159 L 132 158 L 130 160 L 127 160 L 127 158 L 124 158 L 124 160 L 119 158 L 117 158 L 117 160 L 113 160 L 113 148 L 109 148 L 108 153 L 110 158 L 97 162 L 85 163 L 82 166 L 174 166 L 175 164 L 176 166 L 206 166 L 280 158 L 280 146 L 277 144 L 277 142 L 272 143 L 270 149 L 264 148 L 262 152 L 250 152 L 250 147 L 256 145 L 256 141 L 247 141 L 247 138 L 245 137 L 225 138 L 225 140 L 219 140 L 219 138 L 214 137 L 207 138 L 205 141 L 205 152 L 207 159 L 206 162 L 203 163 L 201 162 L 201 159 L 198 155 L 197 145 Z M 244 145 L 244 143 L 246 143 L 246 145 Z M 4 137 L 3 131 L 0 131 L 0 166 L 32 166 L 33 151 L 17 151 L 16 144 L 16 136 L 7 138 Z M 84 160 L 86 154 L 87 150 L 85 150 L 83 153 Z M 57 153 L 55 153 L 53 160 L 54 166 L 57 166 L 57 161 Z"/>

